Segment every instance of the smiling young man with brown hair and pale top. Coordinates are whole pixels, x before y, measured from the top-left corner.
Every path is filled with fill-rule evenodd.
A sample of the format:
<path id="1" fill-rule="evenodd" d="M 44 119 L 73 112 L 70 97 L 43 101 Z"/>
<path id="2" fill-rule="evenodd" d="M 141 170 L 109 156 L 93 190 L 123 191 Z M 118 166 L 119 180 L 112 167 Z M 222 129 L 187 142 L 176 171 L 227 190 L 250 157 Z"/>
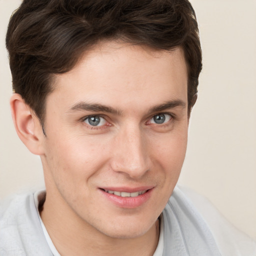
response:
<path id="1" fill-rule="evenodd" d="M 255 254 L 174 189 L 201 70 L 188 1 L 24 0 L 6 46 L 46 192 L 9 202 L 0 255 Z"/>

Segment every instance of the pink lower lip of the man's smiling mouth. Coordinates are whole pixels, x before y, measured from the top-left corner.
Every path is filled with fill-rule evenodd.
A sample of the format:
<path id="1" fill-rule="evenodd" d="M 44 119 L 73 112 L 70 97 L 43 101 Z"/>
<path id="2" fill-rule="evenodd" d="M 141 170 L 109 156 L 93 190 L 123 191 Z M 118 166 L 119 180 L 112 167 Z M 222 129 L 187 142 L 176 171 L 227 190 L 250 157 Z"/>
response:
<path id="1" fill-rule="evenodd" d="M 104 190 L 100 189 L 102 194 L 111 202 L 113 202 L 115 205 L 122 207 L 122 208 L 135 208 L 142 204 L 144 204 L 151 196 L 152 190 L 148 189 L 145 193 L 140 194 L 138 196 L 134 197 L 122 197 L 115 194 L 109 194 L 105 192 Z"/>

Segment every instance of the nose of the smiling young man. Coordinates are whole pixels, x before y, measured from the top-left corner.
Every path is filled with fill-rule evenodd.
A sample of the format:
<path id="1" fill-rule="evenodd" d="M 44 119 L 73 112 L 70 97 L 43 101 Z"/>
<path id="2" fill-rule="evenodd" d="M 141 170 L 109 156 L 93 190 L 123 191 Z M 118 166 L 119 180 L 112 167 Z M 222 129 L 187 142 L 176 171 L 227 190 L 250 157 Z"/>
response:
<path id="1" fill-rule="evenodd" d="M 111 168 L 131 178 L 139 178 L 149 170 L 146 135 L 136 125 L 120 129 L 112 144 Z"/>

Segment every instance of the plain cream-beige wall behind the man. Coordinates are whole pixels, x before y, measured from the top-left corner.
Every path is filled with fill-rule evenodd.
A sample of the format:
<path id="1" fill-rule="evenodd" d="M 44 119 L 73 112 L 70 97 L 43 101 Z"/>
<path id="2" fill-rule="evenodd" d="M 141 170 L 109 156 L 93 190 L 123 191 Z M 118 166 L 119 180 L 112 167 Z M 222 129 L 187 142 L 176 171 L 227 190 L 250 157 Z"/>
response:
<path id="1" fill-rule="evenodd" d="M 18 139 L 8 104 L 4 35 L 20 2 L 0 0 L 0 198 L 43 186 L 40 159 Z M 204 66 L 179 183 L 256 240 L 256 0 L 191 2 Z"/>

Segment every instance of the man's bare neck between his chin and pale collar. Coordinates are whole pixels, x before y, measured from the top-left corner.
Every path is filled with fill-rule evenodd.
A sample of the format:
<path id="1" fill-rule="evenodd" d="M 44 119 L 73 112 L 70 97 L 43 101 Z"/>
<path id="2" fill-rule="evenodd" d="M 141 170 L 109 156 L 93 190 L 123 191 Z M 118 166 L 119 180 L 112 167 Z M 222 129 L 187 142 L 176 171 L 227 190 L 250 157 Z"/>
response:
<path id="1" fill-rule="evenodd" d="M 69 211 L 69 212 L 68 212 Z M 65 212 L 65 214 L 63 214 Z M 135 238 L 109 237 L 77 216 L 69 207 L 63 211 L 46 196 L 40 212 L 49 236 L 65 255 L 153 255 L 159 238 L 159 221 Z M 68 219 L 67 217 L 68 216 Z"/>

